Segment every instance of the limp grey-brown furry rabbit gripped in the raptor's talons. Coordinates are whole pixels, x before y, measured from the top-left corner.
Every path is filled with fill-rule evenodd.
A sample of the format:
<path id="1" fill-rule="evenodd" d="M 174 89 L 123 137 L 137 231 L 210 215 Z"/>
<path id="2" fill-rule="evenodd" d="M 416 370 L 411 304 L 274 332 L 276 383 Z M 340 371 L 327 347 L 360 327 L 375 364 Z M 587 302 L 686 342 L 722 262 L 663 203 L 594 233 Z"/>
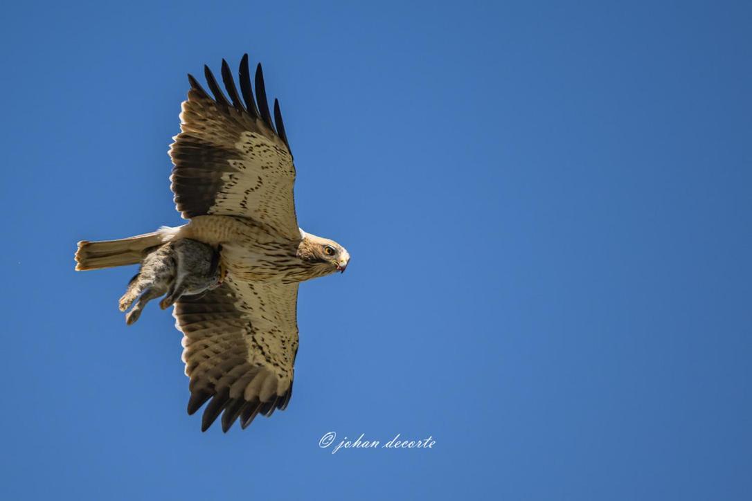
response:
<path id="1" fill-rule="evenodd" d="M 143 261 L 138 274 L 120 297 L 120 311 L 126 314 L 126 324 L 133 324 L 141 316 L 144 306 L 165 294 L 159 306 L 166 309 L 182 296 L 193 296 L 222 285 L 221 249 L 214 249 L 198 240 L 182 239 L 153 248 Z"/>

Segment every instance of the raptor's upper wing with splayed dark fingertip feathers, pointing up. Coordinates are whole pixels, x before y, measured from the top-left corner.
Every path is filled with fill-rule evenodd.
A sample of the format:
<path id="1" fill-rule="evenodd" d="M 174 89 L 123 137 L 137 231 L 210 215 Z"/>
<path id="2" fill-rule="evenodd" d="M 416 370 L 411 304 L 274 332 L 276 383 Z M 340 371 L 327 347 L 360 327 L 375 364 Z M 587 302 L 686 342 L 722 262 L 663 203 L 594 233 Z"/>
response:
<path id="1" fill-rule="evenodd" d="M 175 207 L 186 219 L 242 216 L 285 237 L 298 237 L 293 155 L 276 99 L 276 127 L 272 123 L 261 65 L 256 67 L 255 100 L 247 54 L 238 75 L 242 99 L 224 59 L 222 80 L 229 100 L 208 66 L 204 69 L 214 97 L 188 75 L 191 88 L 182 104 L 180 134 L 170 146 Z"/>

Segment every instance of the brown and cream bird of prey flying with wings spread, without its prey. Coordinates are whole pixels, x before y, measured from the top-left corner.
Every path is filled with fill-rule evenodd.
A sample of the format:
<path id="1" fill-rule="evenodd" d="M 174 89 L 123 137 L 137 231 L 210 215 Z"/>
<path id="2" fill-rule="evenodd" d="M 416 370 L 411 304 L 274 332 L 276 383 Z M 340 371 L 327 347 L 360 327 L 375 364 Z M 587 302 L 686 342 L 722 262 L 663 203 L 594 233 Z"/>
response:
<path id="1" fill-rule="evenodd" d="M 282 115 L 269 110 L 261 65 L 251 83 L 247 54 L 238 71 L 222 61 L 220 84 L 205 66 L 209 92 L 188 75 L 190 90 L 171 144 L 178 228 L 102 242 L 82 241 L 76 270 L 137 264 L 148 249 L 192 239 L 221 249 L 222 285 L 174 303 L 190 377 L 188 413 L 207 403 L 202 430 L 222 414 L 222 429 L 240 418 L 285 409 L 298 352 L 296 303 L 304 280 L 344 271 L 347 250 L 298 226 L 295 166 Z"/>

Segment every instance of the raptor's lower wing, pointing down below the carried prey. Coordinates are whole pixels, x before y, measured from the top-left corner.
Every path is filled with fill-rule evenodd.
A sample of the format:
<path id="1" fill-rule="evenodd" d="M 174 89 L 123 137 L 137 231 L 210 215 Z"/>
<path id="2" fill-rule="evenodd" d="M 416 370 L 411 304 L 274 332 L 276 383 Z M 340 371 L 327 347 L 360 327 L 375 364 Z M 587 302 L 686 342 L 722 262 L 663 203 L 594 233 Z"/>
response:
<path id="1" fill-rule="evenodd" d="M 220 288 L 176 304 L 183 361 L 190 377 L 188 414 L 209 399 L 202 431 L 223 412 L 222 430 L 238 417 L 285 409 L 293 394 L 298 351 L 298 284 L 244 282 L 227 276 Z"/>

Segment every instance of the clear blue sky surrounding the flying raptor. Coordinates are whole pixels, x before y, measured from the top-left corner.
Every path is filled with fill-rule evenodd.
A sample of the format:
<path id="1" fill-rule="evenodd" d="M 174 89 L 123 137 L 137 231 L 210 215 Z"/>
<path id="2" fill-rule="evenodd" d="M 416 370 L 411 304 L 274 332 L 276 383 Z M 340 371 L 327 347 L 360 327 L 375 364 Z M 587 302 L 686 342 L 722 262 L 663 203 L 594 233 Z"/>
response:
<path id="1" fill-rule="evenodd" d="M 749 3 L 354 3 L 5 5 L 0 497 L 750 499 Z M 353 260 L 287 411 L 202 434 L 73 253 L 179 224 L 186 73 L 245 52 Z"/>

